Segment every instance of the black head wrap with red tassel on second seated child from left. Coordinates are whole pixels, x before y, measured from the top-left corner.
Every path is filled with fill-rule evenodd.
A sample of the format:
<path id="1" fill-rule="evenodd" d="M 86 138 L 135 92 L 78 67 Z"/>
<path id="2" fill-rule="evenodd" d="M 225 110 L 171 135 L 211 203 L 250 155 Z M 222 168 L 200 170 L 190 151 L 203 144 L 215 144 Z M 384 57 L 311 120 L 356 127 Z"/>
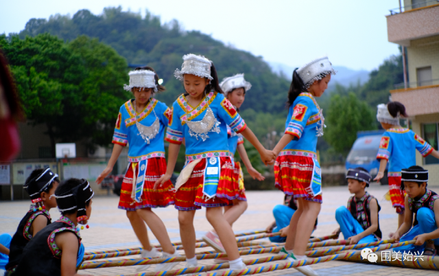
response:
<path id="1" fill-rule="evenodd" d="M 93 198 L 95 192 L 90 187 L 90 183 L 81 179 L 82 183 L 63 194 L 55 194 L 56 203 L 60 212 L 76 209 L 78 222 L 85 224 L 88 220 L 86 215 L 86 202 Z"/>

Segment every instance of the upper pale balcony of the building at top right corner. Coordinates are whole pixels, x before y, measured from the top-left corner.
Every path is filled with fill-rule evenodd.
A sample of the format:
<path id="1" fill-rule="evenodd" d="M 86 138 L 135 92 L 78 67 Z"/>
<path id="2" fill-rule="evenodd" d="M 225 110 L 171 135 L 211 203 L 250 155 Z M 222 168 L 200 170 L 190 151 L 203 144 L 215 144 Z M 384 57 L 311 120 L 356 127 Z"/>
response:
<path id="1" fill-rule="evenodd" d="M 388 41 L 410 47 L 410 41 L 439 34 L 439 2 L 427 1 L 422 8 L 405 8 L 405 12 L 387 17 Z"/>

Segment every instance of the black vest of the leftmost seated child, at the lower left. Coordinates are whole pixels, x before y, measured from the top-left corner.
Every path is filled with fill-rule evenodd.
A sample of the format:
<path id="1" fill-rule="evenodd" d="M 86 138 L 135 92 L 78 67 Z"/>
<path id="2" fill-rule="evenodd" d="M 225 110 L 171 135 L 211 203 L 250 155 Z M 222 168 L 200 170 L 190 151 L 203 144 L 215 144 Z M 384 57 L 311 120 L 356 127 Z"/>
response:
<path id="1" fill-rule="evenodd" d="M 32 239 L 32 234 L 29 233 L 29 229 L 32 226 L 32 222 L 34 222 L 34 219 L 39 215 L 45 216 L 47 218 L 47 225 L 50 224 L 51 219 L 48 211 L 34 211 L 33 209 L 27 211 L 27 214 L 21 219 L 19 227 L 17 227 L 16 232 L 12 237 L 9 253 L 9 262 L 5 266 L 6 270 L 10 270 L 14 268 L 14 266 L 19 264 L 23 249 L 25 248 L 29 240 Z"/>

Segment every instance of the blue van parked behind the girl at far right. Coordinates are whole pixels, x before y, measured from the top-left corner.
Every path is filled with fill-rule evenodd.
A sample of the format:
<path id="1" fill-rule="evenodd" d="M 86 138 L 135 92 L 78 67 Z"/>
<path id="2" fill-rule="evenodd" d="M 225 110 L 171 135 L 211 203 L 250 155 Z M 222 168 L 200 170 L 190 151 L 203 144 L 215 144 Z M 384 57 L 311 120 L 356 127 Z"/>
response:
<path id="1" fill-rule="evenodd" d="M 372 179 L 377 176 L 379 170 L 377 153 L 379 143 L 381 142 L 381 135 L 383 135 L 384 131 L 369 130 L 357 133 L 357 140 L 355 140 L 348 158 L 346 158 L 346 170 L 363 167 L 370 172 Z M 384 177 L 380 181 L 381 185 L 388 185 L 387 172 L 388 166 L 385 168 Z"/>

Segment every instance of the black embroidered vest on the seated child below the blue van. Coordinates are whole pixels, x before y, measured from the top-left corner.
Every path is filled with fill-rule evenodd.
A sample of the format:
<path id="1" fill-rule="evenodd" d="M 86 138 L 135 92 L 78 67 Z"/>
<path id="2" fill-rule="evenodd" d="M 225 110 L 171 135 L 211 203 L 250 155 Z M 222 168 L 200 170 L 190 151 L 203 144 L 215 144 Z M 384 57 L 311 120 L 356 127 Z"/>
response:
<path id="1" fill-rule="evenodd" d="M 351 212 L 352 216 L 359 222 L 359 225 L 363 227 L 364 230 L 368 229 L 372 222 L 370 222 L 370 200 L 374 197 L 371 196 L 368 192 L 364 194 L 364 196 L 360 199 L 355 198 L 355 196 L 351 196 L 348 200 L 348 210 Z M 381 210 L 381 206 L 378 204 L 378 212 Z M 383 234 L 381 233 L 381 229 L 379 229 L 379 215 L 378 215 L 378 228 L 375 231 L 375 236 L 381 239 Z"/>

